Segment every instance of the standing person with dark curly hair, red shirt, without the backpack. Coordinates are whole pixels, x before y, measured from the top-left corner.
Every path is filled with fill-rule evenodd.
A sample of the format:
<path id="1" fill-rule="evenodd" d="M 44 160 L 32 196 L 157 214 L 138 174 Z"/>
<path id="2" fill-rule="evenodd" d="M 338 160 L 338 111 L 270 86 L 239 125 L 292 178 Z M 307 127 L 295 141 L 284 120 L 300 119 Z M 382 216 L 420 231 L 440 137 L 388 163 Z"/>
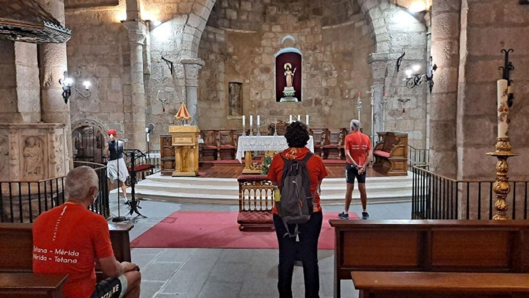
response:
<path id="1" fill-rule="evenodd" d="M 311 151 L 306 148 L 309 140 L 308 129 L 301 122 L 292 122 L 288 125 L 285 133 L 288 149 L 276 154 L 270 169 L 268 179 L 275 185 L 281 186 L 285 160 L 304 160 Z M 279 298 L 292 298 L 292 274 L 296 255 L 303 264 L 303 275 L 305 281 L 305 297 L 317 298 L 320 292 L 320 273 L 318 269 L 318 238 L 322 229 L 323 215 L 320 205 L 320 184 L 327 177 L 327 171 L 320 156 L 308 157 L 306 163 L 310 180 L 310 189 L 313 200 L 313 213 L 311 219 L 306 223 L 298 224 L 299 238 L 285 237 L 288 231 L 295 230 L 295 224 L 288 224 L 288 231 L 284 222 L 278 214 L 276 204 L 273 205 L 273 225 L 276 229 L 277 241 L 279 243 L 279 266 L 278 266 L 278 291 Z"/>

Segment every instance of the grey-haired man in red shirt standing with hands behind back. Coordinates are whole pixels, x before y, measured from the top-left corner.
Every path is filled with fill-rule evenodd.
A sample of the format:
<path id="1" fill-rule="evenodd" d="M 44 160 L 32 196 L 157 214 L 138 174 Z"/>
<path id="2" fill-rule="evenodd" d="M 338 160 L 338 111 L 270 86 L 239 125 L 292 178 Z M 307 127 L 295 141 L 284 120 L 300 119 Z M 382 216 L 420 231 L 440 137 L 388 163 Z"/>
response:
<path id="1" fill-rule="evenodd" d="M 367 194 L 366 194 L 366 167 L 371 160 L 371 141 L 366 134 L 360 132 L 360 121 L 351 120 L 351 133 L 345 137 L 345 210 L 338 214 L 341 219 L 349 219 L 349 206 L 351 205 L 354 178 L 358 180 L 360 201 L 362 201 L 362 219 L 368 219 Z"/>

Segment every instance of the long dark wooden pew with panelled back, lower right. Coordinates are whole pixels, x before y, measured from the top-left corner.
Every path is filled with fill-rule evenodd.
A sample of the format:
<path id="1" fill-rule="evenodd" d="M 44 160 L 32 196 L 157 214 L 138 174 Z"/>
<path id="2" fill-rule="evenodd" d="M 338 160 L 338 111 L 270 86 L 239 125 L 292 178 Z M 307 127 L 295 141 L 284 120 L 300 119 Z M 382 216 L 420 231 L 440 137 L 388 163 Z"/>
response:
<path id="1" fill-rule="evenodd" d="M 353 271 L 529 273 L 522 220 L 330 220 L 334 297 Z"/>

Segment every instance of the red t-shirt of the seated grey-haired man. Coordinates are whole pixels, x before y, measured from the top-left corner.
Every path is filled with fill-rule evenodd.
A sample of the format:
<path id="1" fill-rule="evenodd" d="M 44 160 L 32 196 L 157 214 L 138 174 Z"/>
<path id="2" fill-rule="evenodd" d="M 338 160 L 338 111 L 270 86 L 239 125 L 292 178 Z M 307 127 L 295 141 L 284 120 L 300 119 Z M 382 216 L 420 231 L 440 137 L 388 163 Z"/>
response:
<path id="1" fill-rule="evenodd" d="M 83 205 L 67 202 L 33 224 L 33 272 L 68 274 L 65 298 L 89 298 L 96 284 L 95 260 L 113 254 L 105 218 Z"/>

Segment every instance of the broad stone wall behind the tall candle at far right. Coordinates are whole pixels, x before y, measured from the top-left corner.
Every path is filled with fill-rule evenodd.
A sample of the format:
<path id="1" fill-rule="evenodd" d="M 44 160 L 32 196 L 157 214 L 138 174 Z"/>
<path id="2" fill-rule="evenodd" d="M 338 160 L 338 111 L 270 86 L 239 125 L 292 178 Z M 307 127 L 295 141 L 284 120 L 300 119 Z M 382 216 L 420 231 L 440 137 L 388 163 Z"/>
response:
<path id="1" fill-rule="evenodd" d="M 501 49 L 514 49 L 510 60 L 515 101 L 510 109 L 509 136 L 519 157 L 509 158 L 509 176 L 529 178 L 529 6 L 517 0 L 462 1 L 461 64 L 458 90 L 458 177 L 493 178 L 497 136 L 496 81 L 504 65 Z"/>

